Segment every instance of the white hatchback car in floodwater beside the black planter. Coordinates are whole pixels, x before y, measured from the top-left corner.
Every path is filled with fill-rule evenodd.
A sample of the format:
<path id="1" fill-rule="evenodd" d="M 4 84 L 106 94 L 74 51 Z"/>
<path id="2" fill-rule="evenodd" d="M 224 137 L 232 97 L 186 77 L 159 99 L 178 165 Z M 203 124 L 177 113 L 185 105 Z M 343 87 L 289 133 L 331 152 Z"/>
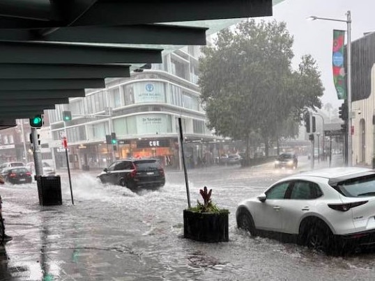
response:
<path id="1" fill-rule="evenodd" d="M 375 170 L 326 168 L 286 177 L 243 200 L 237 225 L 252 235 L 281 233 L 316 250 L 375 246 Z"/>

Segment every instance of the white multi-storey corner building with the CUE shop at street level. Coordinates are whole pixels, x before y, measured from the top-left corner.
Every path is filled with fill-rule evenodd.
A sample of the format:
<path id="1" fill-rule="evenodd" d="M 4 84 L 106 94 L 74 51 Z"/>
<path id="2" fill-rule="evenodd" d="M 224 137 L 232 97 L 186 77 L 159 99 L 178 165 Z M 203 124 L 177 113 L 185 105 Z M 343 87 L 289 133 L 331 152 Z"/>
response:
<path id="1" fill-rule="evenodd" d="M 70 99 L 47 111 L 52 129 L 56 167 L 66 166 L 61 136 L 67 136 L 72 168 L 102 168 L 114 159 L 158 157 L 178 168 L 178 118 L 181 118 L 188 166 L 204 156 L 214 159 L 222 139 L 206 127 L 199 101 L 199 46 L 186 46 L 163 56 L 150 70 L 130 78 L 107 79 L 106 88 L 86 90 L 86 97 Z M 72 121 L 63 122 L 63 111 Z M 116 134 L 117 144 L 106 135 Z"/>

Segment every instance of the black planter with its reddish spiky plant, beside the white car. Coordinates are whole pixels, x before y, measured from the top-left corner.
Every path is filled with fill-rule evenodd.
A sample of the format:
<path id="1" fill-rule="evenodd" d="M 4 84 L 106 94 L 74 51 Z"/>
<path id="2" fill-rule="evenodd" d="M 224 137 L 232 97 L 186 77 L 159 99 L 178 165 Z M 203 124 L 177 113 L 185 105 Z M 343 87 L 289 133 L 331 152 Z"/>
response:
<path id="1" fill-rule="evenodd" d="M 211 201 L 212 189 L 200 190 L 204 202 L 183 210 L 183 234 L 185 238 L 204 242 L 229 241 L 229 210 L 220 209 Z"/>

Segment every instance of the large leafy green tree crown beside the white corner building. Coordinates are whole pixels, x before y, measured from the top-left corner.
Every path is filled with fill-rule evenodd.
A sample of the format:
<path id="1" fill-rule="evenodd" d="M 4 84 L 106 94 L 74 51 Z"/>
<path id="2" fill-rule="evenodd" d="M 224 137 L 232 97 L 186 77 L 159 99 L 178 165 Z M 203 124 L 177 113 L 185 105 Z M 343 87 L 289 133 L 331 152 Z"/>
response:
<path id="1" fill-rule="evenodd" d="M 235 31 L 218 33 L 214 45 L 202 49 L 199 65 L 208 127 L 218 135 L 245 140 L 249 148 L 250 134 L 260 134 L 268 143 L 280 136 L 280 127 L 291 116 L 300 122 L 305 106 L 320 107 L 323 91 L 314 60 L 304 57 L 300 70 L 293 72 L 292 45 L 284 22 L 249 20 Z"/>

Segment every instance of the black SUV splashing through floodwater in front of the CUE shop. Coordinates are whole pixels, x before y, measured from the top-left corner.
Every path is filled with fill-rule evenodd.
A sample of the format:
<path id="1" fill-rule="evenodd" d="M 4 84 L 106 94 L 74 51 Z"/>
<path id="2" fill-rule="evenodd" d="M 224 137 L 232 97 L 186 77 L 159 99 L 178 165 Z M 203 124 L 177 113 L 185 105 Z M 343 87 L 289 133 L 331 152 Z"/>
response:
<path id="1" fill-rule="evenodd" d="M 130 189 L 164 186 L 164 169 L 157 159 L 125 159 L 111 163 L 98 175 L 102 183 L 119 184 Z"/>

